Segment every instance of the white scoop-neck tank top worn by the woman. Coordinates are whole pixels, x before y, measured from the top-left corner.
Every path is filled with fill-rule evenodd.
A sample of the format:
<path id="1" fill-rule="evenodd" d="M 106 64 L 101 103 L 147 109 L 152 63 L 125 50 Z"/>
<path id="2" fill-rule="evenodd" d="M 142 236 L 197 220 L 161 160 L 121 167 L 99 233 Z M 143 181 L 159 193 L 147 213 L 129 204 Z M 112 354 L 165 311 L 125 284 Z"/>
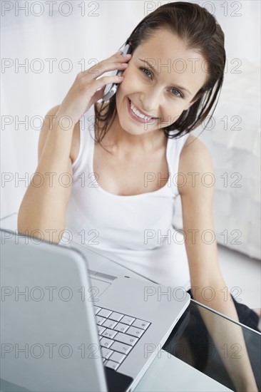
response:
<path id="1" fill-rule="evenodd" d="M 172 222 L 178 163 L 188 134 L 168 138 L 165 186 L 140 195 L 113 195 L 98 185 L 93 171 L 94 120 L 92 105 L 80 119 L 80 147 L 66 213 L 69 237 L 155 282 L 184 286 L 190 280 L 188 259 L 183 238 Z"/>

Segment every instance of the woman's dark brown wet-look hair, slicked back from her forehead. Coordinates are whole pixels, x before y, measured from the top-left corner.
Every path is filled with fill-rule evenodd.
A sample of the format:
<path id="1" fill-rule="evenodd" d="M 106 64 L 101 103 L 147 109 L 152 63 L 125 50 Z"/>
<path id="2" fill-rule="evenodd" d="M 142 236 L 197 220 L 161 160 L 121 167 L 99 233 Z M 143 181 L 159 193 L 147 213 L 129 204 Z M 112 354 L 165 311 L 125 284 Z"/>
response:
<path id="1" fill-rule="evenodd" d="M 183 110 L 178 120 L 162 128 L 167 138 L 179 138 L 197 128 L 207 118 L 210 110 L 218 103 L 218 93 L 221 90 L 225 69 L 225 37 L 215 19 L 207 9 L 183 1 L 164 4 L 143 18 L 126 40 L 133 50 L 138 45 L 153 36 L 157 31 L 168 29 L 181 38 L 188 49 L 197 51 L 205 59 L 208 80 L 193 97 L 195 101 L 188 110 Z M 108 105 L 98 110 L 94 105 L 96 121 L 96 142 L 100 143 L 113 123 L 116 116 L 116 94 L 109 100 Z M 213 112 L 215 110 L 213 108 Z M 105 112 L 105 113 L 103 113 Z M 210 121 L 213 113 L 208 116 Z M 97 135 L 98 123 L 103 123 Z M 207 123 L 208 124 L 208 123 Z M 171 131 L 171 132 L 170 132 Z"/>

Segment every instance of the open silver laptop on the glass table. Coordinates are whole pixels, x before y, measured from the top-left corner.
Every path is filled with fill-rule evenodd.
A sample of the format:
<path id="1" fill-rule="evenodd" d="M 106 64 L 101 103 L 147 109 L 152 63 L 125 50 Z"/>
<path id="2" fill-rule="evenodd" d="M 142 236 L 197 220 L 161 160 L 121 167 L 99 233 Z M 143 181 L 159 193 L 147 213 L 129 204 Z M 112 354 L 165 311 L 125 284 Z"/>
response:
<path id="1" fill-rule="evenodd" d="M 185 289 L 0 232 L 1 378 L 29 391 L 133 391 L 188 307 Z"/>

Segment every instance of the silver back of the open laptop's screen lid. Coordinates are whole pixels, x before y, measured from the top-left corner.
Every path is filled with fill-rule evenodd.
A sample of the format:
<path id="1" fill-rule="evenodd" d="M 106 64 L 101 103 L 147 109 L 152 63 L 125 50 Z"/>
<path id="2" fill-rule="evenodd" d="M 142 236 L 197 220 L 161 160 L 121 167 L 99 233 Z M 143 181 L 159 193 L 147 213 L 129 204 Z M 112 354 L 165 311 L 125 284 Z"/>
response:
<path id="1" fill-rule="evenodd" d="M 1 378 L 31 391 L 126 391 L 133 379 L 103 367 L 83 254 L 0 232 Z"/>

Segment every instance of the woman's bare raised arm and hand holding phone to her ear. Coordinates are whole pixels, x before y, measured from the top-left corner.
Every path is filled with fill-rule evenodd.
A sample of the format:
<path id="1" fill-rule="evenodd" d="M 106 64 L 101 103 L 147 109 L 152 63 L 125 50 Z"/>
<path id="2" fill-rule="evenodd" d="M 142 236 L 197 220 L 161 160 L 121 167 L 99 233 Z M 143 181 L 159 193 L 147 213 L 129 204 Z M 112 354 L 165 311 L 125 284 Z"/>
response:
<path id="1" fill-rule="evenodd" d="M 125 70 L 130 56 L 124 57 L 117 52 L 98 66 L 78 73 L 61 105 L 47 113 L 39 138 L 39 163 L 19 208 L 18 231 L 21 234 L 44 237 L 48 242 L 61 241 L 71 195 L 73 130 L 88 108 L 103 97 L 106 84 L 122 81 L 118 76 L 98 77 L 107 71 Z M 53 121 L 47 117 L 52 115 L 56 115 Z M 36 186 L 40 180 L 41 186 Z"/>

